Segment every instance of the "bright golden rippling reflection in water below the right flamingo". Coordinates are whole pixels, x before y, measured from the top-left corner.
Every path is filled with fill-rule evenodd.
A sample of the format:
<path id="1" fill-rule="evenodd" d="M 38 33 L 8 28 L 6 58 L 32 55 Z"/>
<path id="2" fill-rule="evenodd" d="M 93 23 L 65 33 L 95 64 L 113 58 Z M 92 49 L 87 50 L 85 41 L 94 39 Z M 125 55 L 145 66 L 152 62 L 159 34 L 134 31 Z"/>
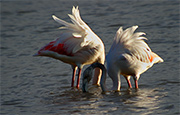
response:
<path id="1" fill-rule="evenodd" d="M 146 114 L 152 114 L 160 107 L 160 98 L 166 93 L 159 95 L 159 89 L 139 89 L 137 92 L 131 92 L 130 98 L 123 101 L 126 108 L 134 112 L 146 111 Z"/>

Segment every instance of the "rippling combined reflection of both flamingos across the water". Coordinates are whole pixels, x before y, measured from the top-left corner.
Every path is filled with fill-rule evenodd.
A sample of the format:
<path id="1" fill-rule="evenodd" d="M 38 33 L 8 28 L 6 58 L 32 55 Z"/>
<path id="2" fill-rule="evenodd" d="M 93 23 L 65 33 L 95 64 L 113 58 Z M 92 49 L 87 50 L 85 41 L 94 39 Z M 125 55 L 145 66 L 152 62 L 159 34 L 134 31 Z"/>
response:
<path id="1" fill-rule="evenodd" d="M 48 98 L 44 98 L 41 102 L 51 105 L 49 109 L 58 108 L 59 114 L 76 112 L 80 114 L 116 114 L 118 111 L 126 111 L 127 114 L 153 114 L 161 107 L 161 98 L 167 95 L 162 90 L 158 88 L 127 89 L 121 92 L 101 94 L 83 93 L 81 90 L 66 88 L 60 93 L 49 94 Z"/>

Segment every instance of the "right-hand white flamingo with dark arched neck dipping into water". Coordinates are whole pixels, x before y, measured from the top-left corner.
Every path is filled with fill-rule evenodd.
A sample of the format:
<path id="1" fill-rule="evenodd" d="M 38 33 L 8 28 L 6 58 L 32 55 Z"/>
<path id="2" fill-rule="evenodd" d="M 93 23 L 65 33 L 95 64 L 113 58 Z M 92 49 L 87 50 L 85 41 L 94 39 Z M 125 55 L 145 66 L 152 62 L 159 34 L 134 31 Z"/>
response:
<path id="1" fill-rule="evenodd" d="M 138 26 L 133 26 L 123 31 L 122 27 L 116 33 L 114 42 L 106 56 L 107 72 L 113 81 L 112 90 L 120 91 L 120 75 L 123 75 L 129 87 L 131 88 L 130 77 L 135 81 L 135 88 L 138 88 L 138 79 L 140 74 L 153 66 L 155 63 L 163 62 L 157 54 L 151 51 L 149 46 L 144 42 L 141 35 L 143 32 L 134 33 Z M 87 85 L 92 77 L 94 68 L 101 68 L 103 71 L 101 77 L 102 91 L 107 91 L 106 69 L 102 64 L 95 63 L 88 67 L 83 74 L 83 91 L 88 91 Z"/>

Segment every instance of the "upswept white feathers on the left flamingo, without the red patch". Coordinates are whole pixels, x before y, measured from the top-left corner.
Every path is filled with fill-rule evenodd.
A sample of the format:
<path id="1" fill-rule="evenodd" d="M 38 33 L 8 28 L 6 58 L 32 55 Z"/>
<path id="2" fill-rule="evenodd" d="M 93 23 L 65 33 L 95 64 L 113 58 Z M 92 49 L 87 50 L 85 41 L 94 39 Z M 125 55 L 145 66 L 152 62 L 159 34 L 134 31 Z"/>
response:
<path id="1" fill-rule="evenodd" d="M 92 34 L 92 30 L 89 26 L 81 19 L 78 6 L 72 8 L 72 14 L 68 14 L 72 23 L 66 22 L 62 19 L 59 19 L 55 15 L 52 15 L 53 19 L 64 25 L 59 29 L 65 29 L 66 31 L 60 35 L 60 37 L 56 40 L 56 45 L 59 43 L 63 43 L 64 47 L 67 47 L 67 51 L 70 53 L 75 53 L 80 50 L 82 47 L 87 45 L 86 36 L 88 34 Z M 94 34 L 94 33 L 93 33 Z M 89 40 L 89 39 L 88 39 Z"/>

